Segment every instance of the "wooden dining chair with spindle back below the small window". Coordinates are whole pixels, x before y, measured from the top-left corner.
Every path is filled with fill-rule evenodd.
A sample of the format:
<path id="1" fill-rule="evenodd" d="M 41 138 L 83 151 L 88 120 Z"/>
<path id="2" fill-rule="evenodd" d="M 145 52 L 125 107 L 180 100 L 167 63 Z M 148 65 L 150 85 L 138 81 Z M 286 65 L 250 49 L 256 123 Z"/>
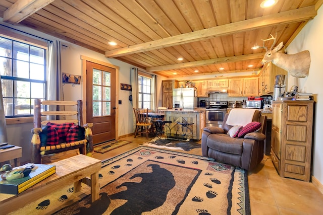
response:
<path id="1" fill-rule="evenodd" d="M 136 131 L 135 137 L 137 133 L 145 133 L 146 138 L 148 139 L 148 133 L 150 132 L 150 126 L 152 122 L 148 121 L 148 108 L 134 108 L 133 109 L 136 116 Z"/>

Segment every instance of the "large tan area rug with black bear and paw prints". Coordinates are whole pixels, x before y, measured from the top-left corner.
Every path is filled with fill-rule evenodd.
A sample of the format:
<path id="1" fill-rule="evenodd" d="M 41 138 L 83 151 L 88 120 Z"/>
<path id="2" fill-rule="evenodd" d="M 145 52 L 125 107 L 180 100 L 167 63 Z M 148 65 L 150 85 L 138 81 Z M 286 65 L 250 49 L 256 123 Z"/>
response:
<path id="1" fill-rule="evenodd" d="M 70 185 L 13 214 L 250 214 L 247 172 L 202 156 L 139 147 L 103 161 L 99 183 L 93 203 Z"/>

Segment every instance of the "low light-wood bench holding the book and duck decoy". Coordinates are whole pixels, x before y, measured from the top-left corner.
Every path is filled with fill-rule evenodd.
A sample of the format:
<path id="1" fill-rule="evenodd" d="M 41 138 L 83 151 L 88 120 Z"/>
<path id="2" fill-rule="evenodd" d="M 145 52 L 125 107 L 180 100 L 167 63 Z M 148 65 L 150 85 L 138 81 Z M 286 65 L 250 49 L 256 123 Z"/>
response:
<path id="1" fill-rule="evenodd" d="M 99 198 L 98 172 L 101 169 L 100 160 L 85 155 L 77 155 L 51 163 L 50 165 L 56 166 L 56 173 L 22 193 L 17 195 L 0 193 L 1 214 L 17 210 L 43 197 L 45 194 L 56 191 L 73 182 L 74 192 L 81 189 L 81 182 L 85 182 L 91 186 L 92 202 Z M 91 176 L 91 179 L 85 179 L 87 176 Z"/>

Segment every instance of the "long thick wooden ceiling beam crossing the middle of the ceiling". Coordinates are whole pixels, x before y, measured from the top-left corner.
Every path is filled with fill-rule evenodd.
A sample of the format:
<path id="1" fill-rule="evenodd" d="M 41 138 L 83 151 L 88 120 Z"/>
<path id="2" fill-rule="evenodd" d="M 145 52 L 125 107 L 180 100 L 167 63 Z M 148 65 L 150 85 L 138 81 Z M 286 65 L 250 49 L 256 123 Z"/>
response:
<path id="1" fill-rule="evenodd" d="M 299 8 L 274 15 L 257 17 L 226 25 L 220 25 L 199 31 L 180 34 L 159 40 L 136 44 L 105 52 L 105 57 L 117 57 L 138 52 L 145 52 L 159 48 L 166 48 L 175 45 L 210 39 L 218 36 L 225 36 L 239 32 L 255 30 L 263 27 L 301 22 L 313 19 L 316 16 L 315 6 Z"/>

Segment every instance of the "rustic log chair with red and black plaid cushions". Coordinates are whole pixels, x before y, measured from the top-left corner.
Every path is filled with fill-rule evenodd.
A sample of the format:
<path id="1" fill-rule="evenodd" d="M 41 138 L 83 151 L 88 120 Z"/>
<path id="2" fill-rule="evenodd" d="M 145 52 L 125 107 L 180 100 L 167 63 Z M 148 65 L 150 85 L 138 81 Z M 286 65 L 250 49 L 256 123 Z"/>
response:
<path id="1" fill-rule="evenodd" d="M 58 108 L 62 106 L 69 110 L 59 110 Z M 73 110 L 75 106 L 76 111 Z M 47 116 L 47 119 L 42 121 L 44 116 Z M 40 101 L 35 99 L 34 128 L 31 130 L 33 133 L 31 162 L 42 163 L 44 155 L 75 149 L 79 149 L 80 154 L 92 157 L 92 126 L 93 123 L 83 125 L 82 100 Z"/>

